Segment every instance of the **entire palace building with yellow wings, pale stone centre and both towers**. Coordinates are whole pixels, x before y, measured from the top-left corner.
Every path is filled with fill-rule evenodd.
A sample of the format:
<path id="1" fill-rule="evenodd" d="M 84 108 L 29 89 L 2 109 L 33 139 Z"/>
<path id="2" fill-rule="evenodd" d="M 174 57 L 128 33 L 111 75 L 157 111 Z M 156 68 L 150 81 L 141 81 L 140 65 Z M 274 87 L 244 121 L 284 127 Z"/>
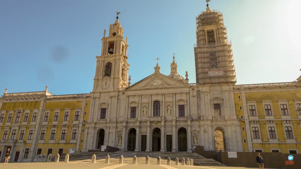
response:
<path id="1" fill-rule="evenodd" d="M 104 30 L 89 94 L 45 91 L 0 98 L 0 159 L 33 161 L 113 146 L 121 151 L 301 152 L 301 76 L 295 82 L 235 85 L 231 42 L 219 11 L 197 16 L 196 81 L 154 73 L 131 84 L 127 37 L 118 17 Z M 299 106 L 299 107 L 298 107 Z"/>

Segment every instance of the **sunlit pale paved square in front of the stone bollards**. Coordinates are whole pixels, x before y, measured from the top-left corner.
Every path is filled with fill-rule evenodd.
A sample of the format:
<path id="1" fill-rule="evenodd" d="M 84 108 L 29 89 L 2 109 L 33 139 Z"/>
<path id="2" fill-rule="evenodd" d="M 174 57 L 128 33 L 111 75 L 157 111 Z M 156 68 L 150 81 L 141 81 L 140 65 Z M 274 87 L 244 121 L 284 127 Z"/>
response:
<path id="1" fill-rule="evenodd" d="M 11 162 L 0 163 L 1 169 L 249 169 L 246 167 L 215 167 L 215 166 L 182 166 L 182 165 L 157 165 L 157 164 L 100 164 L 100 163 L 79 163 L 79 162 Z M 268 169 L 268 168 L 266 168 Z M 271 168 L 270 168 L 271 169 Z"/>

